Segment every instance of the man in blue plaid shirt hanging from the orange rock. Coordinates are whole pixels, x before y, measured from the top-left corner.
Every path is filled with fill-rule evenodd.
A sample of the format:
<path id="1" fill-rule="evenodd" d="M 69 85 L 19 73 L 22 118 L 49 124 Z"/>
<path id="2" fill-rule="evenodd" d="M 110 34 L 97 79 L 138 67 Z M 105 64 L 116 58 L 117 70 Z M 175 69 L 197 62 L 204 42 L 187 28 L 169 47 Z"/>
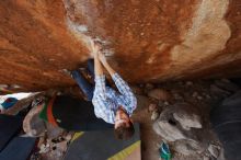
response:
<path id="1" fill-rule="evenodd" d="M 71 71 L 71 77 L 87 95 L 88 101 L 92 101 L 96 117 L 114 124 L 116 138 L 127 139 L 135 133 L 130 116 L 137 106 L 137 100 L 128 84 L 108 65 L 100 45 L 91 42 L 91 48 L 94 60 L 88 60 L 88 69 L 95 84 L 92 85 L 78 70 Z M 111 75 L 118 92 L 105 82 L 102 66 Z"/>

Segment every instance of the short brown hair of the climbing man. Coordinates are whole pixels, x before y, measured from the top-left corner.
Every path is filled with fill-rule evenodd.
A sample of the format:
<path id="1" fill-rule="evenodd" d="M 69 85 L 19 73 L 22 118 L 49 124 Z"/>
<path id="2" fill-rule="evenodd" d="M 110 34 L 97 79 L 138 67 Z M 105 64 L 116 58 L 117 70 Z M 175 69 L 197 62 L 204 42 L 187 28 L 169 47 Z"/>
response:
<path id="1" fill-rule="evenodd" d="M 122 124 L 119 127 L 114 129 L 114 135 L 116 139 L 127 140 L 133 137 L 135 134 L 133 122 L 128 122 L 129 125 L 126 126 L 126 124 Z"/>

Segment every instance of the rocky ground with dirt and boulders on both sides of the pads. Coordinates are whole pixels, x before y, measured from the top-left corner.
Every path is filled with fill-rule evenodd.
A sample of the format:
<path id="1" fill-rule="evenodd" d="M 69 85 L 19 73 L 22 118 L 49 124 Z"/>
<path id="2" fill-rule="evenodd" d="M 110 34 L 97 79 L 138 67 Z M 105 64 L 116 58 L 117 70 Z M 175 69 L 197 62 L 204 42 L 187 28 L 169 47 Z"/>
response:
<path id="1" fill-rule="evenodd" d="M 222 147 L 211 130 L 209 112 L 221 100 L 238 91 L 238 85 L 221 79 L 147 83 L 133 85 L 131 89 L 138 99 L 133 118 L 140 123 L 144 160 L 160 159 L 162 141 L 169 144 L 173 160 L 223 160 Z M 79 94 L 79 90 L 69 91 L 78 91 Z M 38 105 L 35 103 L 39 103 L 39 100 L 32 105 Z M 31 127 L 34 126 L 25 124 L 24 129 L 28 135 L 33 134 Z M 73 133 L 48 124 L 44 127 L 45 133 L 38 135 L 39 141 L 30 159 L 62 159 Z"/>

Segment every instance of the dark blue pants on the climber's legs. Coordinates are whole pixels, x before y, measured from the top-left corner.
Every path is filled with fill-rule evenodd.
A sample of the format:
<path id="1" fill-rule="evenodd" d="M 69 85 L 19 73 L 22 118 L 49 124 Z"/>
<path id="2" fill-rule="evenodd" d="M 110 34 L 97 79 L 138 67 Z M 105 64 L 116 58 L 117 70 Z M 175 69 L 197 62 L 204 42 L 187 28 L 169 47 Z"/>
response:
<path id="1" fill-rule="evenodd" d="M 88 60 L 88 71 L 91 75 L 92 80 L 94 82 L 94 60 L 93 59 Z M 93 98 L 94 85 L 90 83 L 78 70 L 73 70 L 71 73 L 72 73 L 72 78 L 76 80 L 80 89 L 85 94 L 88 101 L 91 101 Z"/>

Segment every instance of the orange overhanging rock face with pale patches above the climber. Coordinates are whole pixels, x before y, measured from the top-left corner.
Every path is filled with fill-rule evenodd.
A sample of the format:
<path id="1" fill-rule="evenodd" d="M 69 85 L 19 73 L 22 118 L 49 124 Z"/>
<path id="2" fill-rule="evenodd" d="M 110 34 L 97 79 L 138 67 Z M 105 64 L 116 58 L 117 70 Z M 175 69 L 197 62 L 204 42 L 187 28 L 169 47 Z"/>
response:
<path id="1" fill-rule="evenodd" d="M 129 82 L 241 73 L 241 1 L 0 1 L 0 83 L 23 91 L 73 85 L 62 73 L 103 44 Z"/>

